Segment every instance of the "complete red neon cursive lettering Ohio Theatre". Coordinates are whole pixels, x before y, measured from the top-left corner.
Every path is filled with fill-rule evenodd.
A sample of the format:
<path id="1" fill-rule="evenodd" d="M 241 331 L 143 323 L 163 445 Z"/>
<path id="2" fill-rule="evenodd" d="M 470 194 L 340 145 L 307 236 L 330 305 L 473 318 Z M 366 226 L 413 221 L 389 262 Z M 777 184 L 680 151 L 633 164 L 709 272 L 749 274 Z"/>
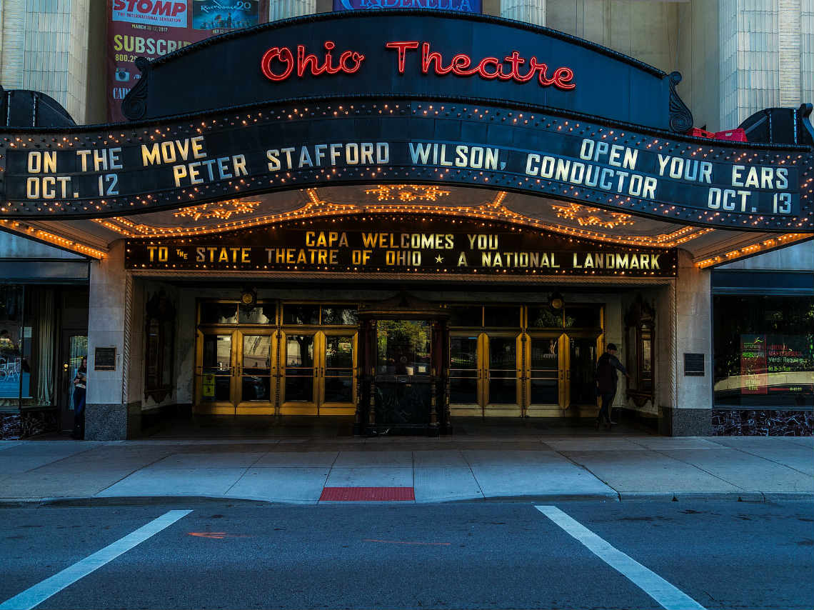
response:
<path id="1" fill-rule="evenodd" d="M 303 78 L 306 74 L 313 77 L 322 74 L 353 74 L 361 68 L 365 55 L 355 50 L 344 50 L 335 57 L 335 42 L 326 40 L 322 57 L 309 53 L 305 45 L 297 45 L 295 50 L 287 46 L 272 46 L 260 59 L 260 70 L 269 81 L 286 81 L 292 74 Z M 532 57 L 525 59 L 519 52 L 513 50 L 503 59 L 497 57 L 484 57 L 475 62 L 466 53 L 457 53 L 449 59 L 444 59 L 438 51 L 431 49 L 429 42 L 394 41 L 384 45 L 387 49 L 396 51 L 396 64 L 399 74 L 405 73 L 408 54 L 417 52 L 418 63 L 424 74 L 433 72 L 435 76 L 443 77 L 454 74 L 458 77 L 479 76 L 487 81 L 514 81 L 525 83 L 536 79 L 541 87 L 555 86 L 560 90 L 569 91 L 576 87 L 573 81 L 574 71 L 571 68 L 561 67 L 554 69 L 549 76 L 549 65 Z M 419 46 L 421 47 L 419 50 Z"/>

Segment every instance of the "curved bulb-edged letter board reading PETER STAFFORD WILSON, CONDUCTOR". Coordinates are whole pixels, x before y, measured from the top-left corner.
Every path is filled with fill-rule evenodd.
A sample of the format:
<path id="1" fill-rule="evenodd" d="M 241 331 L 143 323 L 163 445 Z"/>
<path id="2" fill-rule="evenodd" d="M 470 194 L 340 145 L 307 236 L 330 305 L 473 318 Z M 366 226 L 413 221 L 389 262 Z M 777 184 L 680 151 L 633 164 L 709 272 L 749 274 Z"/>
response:
<path id="1" fill-rule="evenodd" d="M 667 222 L 811 231 L 812 151 L 720 145 L 499 107 L 288 104 L 0 134 L 0 218 L 104 217 L 322 185 L 444 183 Z"/>

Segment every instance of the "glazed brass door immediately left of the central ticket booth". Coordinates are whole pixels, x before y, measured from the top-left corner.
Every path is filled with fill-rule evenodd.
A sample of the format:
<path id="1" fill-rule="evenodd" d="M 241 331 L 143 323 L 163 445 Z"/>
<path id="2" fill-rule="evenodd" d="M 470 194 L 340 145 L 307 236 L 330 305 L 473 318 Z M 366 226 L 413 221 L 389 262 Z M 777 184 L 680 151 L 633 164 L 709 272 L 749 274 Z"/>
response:
<path id="1" fill-rule="evenodd" d="M 354 399 L 354 373 L 356 370 L 356 334 L 324 335 L 322 341 L 322 409 L 330 409 L 331 415 L 353 415 L 356 412 Z"/>

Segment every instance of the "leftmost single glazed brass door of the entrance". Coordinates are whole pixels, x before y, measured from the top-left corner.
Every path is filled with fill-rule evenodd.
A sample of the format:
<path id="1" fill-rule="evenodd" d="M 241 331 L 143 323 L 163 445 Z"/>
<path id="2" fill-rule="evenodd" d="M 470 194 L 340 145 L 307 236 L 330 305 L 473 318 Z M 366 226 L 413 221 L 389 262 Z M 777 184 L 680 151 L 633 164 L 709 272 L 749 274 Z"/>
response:
<path id="1" fill-rule="evenodd" d="M 207 413 L 234 415 L 232 333 L 204 333 L 201 344 L 199 406 Z"/>

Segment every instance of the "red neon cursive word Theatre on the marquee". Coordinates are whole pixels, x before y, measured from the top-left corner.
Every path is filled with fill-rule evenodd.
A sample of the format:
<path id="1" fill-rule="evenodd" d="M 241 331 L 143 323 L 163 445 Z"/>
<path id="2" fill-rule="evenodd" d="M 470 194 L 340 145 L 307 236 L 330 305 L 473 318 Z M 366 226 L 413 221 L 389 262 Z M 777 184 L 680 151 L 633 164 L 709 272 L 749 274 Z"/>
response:
<path id="1" fill-rule="evenodd" d="M 501 59 L 497 57 L 484 57 L 475 66 L 472 65 L 472 58 L 465 53 L 453 55 L 449 64 L 444 65 L 444 57 L 440 52 L 431 50 L 429 42 L 421 44 L 421 71 L 424 74 L 434 72 L 437 76 L 444 76 L 452 72 L 459 77 L 470 77 L 477 74 L 479 77 L 492 81 L 517 81 L 519 83 L 531 81 L 535 76 L 540 86 L 548 87 L 554 85 L 558 89 L 575 89 L 576 84 L 571 82 L 574 78 L 574 71 L 571 68 L 557 68 L 554 74 L 549 77 L 549 66 L 537 60 L 536 57 L 523 59 L 518 51 L 513 50 L 510 55 Z M 417 41 L 394 41 L 387 42 L 384 46 L 388 49 L 395 49 L 397 52 L 396 61 L 399 74 L 405 73 L 405 61 L 408 50 L 418 50 Z M 525 74 L 520 72 L 520 66 L 528 64 L 528 71 Z M 509 64 L 508 67 L 505 64 Z"/>

